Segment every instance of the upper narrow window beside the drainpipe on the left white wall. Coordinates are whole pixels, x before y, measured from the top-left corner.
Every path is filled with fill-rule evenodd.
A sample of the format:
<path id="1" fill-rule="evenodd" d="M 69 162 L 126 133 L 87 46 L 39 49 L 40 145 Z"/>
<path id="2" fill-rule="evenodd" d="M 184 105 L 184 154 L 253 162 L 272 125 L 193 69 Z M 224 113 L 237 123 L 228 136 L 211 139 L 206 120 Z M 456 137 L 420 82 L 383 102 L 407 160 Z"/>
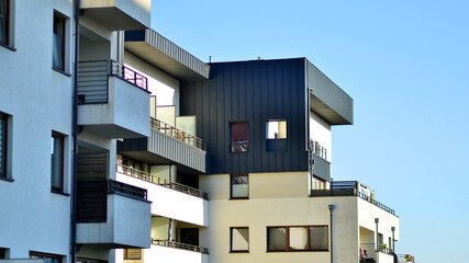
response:
<path id="1" fill-rule="evenodd" d="M 54 13 L 53 66 L 65 70 L 65 18 Z"/>

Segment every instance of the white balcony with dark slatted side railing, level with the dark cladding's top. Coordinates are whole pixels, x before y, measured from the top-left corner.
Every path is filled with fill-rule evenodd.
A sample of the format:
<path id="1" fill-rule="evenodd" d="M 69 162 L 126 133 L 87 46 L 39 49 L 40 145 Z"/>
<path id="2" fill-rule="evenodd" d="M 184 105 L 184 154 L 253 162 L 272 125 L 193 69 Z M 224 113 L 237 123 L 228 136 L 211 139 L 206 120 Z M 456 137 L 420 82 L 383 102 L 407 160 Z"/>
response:
<path id="1" fill-rule="evenodd" d="M 147 79 L 113 60 L 80 61 L 78 125 L 108 138 L 149 136 Z"/>

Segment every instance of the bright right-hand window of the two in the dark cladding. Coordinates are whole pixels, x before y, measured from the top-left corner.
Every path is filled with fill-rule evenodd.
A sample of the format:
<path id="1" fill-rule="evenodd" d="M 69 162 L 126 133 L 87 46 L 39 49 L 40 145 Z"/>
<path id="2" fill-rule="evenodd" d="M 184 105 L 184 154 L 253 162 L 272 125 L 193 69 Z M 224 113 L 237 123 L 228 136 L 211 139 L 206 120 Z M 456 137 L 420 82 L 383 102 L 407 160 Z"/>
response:
<path id="1" fill-rule="evenodd" d="M 287 150 L 287 122 L 279 119 L 267 121 L 267 151 Z"/>

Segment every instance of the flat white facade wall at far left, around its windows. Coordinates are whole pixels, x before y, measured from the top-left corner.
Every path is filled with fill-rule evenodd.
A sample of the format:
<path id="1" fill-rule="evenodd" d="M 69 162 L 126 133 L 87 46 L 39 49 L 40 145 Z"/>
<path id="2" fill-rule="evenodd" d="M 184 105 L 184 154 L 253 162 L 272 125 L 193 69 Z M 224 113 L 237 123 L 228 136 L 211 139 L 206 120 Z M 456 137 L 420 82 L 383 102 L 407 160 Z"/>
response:
<path id="1" fill-rule="evenodd" d="M 52 69 L 54 10 L 69 18 L 65 70 L 70 72 L 71 1 L 12 1 L 16 50 L 0 46 L 0 112 L 12 116 L 9 173 L 14 180 L 0 180 L 0 247 L 10 249 L 11 259 L 29 258 L 30 251 L 69 252 L 72 78 Z M 53 130 L 66 136 L 65 195 L 51 192 Z"/>

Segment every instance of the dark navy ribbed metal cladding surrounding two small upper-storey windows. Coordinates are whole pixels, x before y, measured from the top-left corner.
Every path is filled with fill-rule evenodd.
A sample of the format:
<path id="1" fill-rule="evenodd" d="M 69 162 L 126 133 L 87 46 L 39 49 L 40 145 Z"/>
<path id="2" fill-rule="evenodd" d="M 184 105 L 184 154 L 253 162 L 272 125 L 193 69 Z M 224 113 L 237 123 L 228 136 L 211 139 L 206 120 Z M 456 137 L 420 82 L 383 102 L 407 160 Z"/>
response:
<path id="1" fill-rule="evenodd" d="M 208 173 L 308 171 L 305 59 L 211 64 L 209 80 L 181 81 L 181 115 L 197 115 Z M 267 151 L 267 121 L 287 121 L 284 151 Z M 248 122 L 249 149 L 231 152 L 230 122 Z"/>

